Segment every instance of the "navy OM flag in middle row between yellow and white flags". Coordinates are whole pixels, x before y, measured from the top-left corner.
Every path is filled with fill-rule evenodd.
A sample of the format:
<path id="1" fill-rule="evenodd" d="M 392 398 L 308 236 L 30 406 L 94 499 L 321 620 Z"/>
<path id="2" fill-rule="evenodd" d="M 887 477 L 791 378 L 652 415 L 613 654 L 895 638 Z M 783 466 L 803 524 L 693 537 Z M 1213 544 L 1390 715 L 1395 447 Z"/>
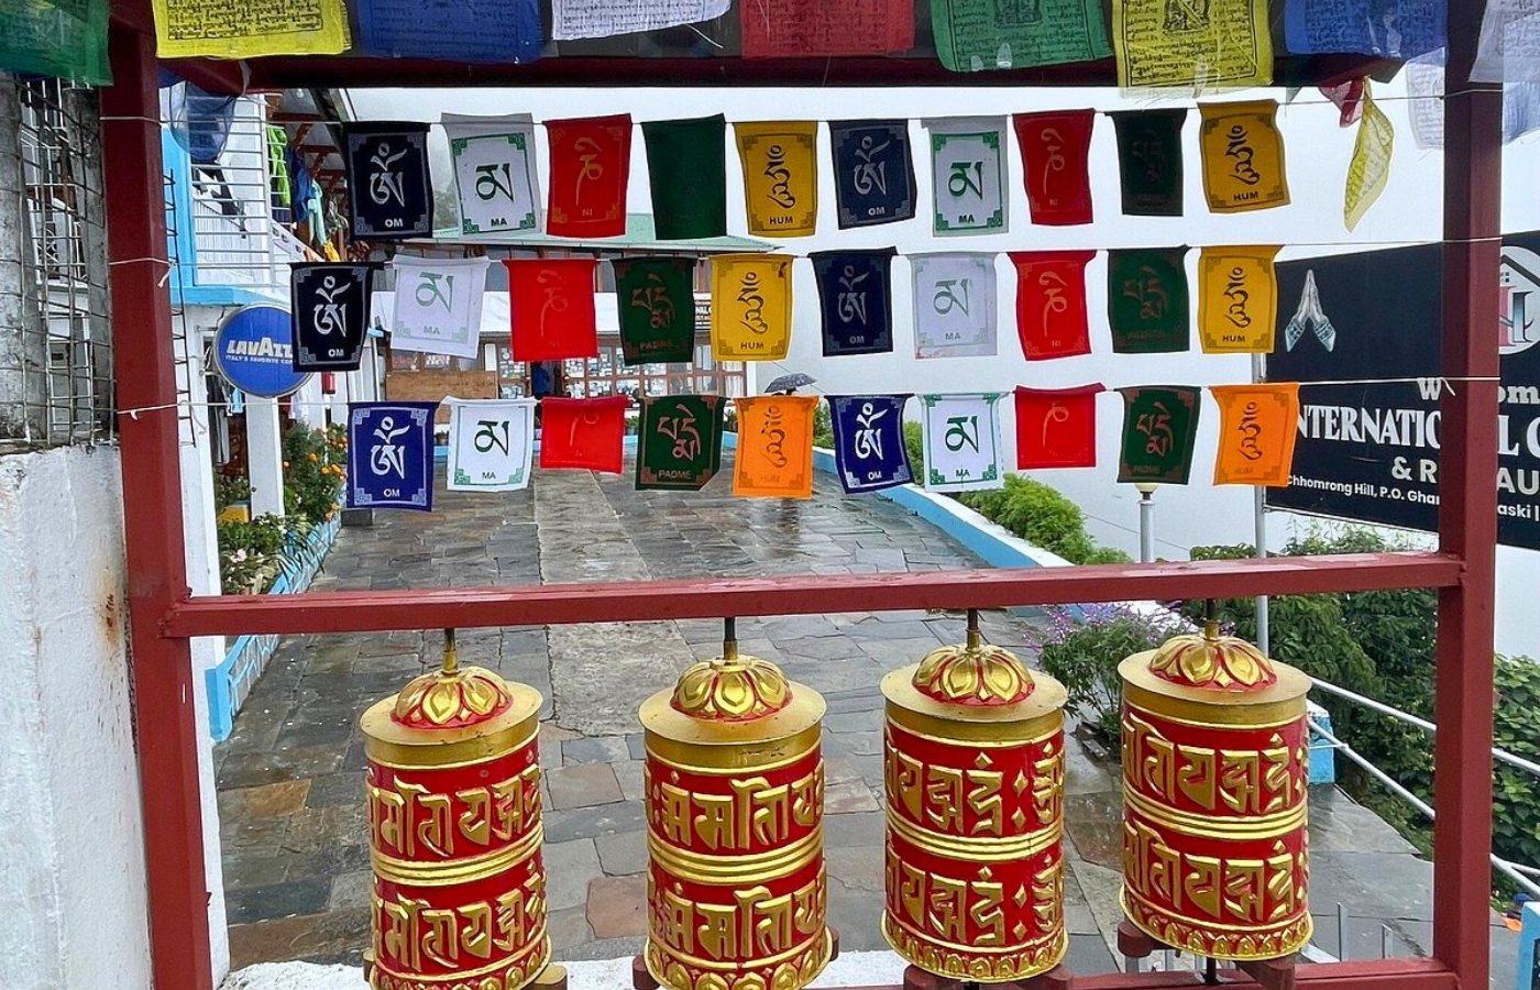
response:
<path id="1" fill-rule="evenodd" d="M 878 248 L 812 256 L 824 316 L 824 357 L 893 350 L 893 248 Z"/>

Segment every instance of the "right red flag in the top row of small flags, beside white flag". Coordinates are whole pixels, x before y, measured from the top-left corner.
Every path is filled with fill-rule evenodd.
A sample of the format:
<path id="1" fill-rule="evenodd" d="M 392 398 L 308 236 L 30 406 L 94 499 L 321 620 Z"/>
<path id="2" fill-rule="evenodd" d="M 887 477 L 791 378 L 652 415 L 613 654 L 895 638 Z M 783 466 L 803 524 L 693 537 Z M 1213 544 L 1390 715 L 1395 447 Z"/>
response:
<path id="1" fill-rule="evenodd" d="M 1023 174 L 1032 222 L 1044 226 L 1090 223 L 1090 131 L 1096 111 L 1016 114 Z"/>

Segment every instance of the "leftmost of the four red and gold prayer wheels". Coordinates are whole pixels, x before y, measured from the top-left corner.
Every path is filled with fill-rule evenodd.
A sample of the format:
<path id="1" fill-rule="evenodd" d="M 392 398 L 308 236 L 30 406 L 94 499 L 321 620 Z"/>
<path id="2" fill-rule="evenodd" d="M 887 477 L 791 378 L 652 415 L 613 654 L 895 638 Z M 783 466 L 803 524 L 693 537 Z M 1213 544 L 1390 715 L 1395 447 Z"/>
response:
<path id="1" fill-rule="evenodd" d="M 376 990 L 565 982 L 545 935 L 541 701 L 462 668 L 448 630 L 444 668 L 363 714 Z"/>

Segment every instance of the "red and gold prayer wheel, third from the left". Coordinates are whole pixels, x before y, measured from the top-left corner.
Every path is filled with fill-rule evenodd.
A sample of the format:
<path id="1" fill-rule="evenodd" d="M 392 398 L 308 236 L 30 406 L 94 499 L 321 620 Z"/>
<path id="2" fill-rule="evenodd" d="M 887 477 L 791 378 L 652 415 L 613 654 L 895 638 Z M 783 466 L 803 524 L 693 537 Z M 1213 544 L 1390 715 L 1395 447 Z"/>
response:
<path id="1" fill-rule="evenodd" d="M 1064 701 L 983 644 L 882 679 L 887 902 L 882 935 L 927 973 L 1016 982 L 1055 968 L 1064 930 Z"/>

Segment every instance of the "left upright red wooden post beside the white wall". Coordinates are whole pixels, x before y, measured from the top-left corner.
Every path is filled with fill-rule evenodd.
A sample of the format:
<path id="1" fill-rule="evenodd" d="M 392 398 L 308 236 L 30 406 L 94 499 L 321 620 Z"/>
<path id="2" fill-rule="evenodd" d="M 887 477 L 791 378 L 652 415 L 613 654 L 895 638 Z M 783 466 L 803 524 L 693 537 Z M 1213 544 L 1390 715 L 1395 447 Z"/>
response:
<path id="1" fill-rule="evenodd" d="M 139 787 L 145 816 L 149 948 L 156 987 L 209 990 L 213 962 L 192 654 L 160 620 L 189 594 L 166 289 L 165 179 L 154 37 L 114 28 L 114 85 L 102 92 L 114 377 L 122 416 L 123 531 Z"/>

